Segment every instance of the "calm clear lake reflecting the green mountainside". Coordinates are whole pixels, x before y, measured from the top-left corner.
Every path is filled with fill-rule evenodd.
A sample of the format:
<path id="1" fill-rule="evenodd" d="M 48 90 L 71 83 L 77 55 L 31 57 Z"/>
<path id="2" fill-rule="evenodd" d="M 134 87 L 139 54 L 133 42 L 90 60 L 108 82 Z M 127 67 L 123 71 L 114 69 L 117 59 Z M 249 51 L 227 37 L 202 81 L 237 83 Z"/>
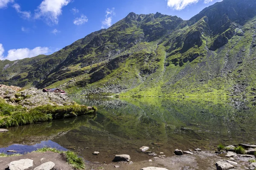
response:
<path id="1" fill-rule="evenodd" d="M 0 133 L 0 152 L 25 153 L 50 146 L 73 150 L 89 161 L 109 163 L 116 154 L 129 154 L 132 161 L 152 158 L 138 152 L 141 146 L 171 156 L 177 148 L 212 150 L 220 143 L 256 143 L 254 98 L 74 100 L 95 105 L 97 113 L 11 127 Z M 99 156 L 94 156 L 94 151 L 99 151 Z"/>

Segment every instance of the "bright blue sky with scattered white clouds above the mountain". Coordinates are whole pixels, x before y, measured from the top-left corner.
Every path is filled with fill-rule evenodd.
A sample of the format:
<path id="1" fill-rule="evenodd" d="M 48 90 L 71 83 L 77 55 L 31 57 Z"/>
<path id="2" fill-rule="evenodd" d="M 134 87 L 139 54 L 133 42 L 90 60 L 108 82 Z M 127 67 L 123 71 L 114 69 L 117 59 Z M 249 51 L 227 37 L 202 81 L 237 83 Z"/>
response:
<path id="1" fill-rule="evenodd" d="M 93 31 L 136 14 L 188 20 L 221 0 L 0 0 L 0 59 L 52 54 Z"/>

